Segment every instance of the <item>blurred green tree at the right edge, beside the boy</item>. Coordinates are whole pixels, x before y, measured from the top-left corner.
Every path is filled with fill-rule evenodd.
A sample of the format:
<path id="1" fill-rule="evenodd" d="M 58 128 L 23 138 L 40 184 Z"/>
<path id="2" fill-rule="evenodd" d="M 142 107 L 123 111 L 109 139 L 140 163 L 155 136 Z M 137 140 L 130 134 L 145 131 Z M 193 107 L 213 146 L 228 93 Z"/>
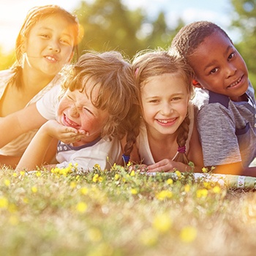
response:
<path id="1" fill-rule="evenodd" d="M 256 0 L 231 0 L 235 13 L 232 26 L 241 32 L 236 44 L 249 70 L 249 78 L 256 89 Z"/>

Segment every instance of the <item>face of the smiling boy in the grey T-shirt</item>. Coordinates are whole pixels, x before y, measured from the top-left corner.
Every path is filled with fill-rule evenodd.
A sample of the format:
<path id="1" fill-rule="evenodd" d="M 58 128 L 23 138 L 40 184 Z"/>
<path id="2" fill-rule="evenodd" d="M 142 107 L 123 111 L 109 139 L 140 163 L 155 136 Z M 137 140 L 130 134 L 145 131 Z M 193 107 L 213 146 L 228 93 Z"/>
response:
<path id="1" fill-rule="evenodd" d="M 202 88 L 239 100 L 248 88 L 244 59 L 228 37 L 217 31 L 206 37 L 188 58 Z"/>

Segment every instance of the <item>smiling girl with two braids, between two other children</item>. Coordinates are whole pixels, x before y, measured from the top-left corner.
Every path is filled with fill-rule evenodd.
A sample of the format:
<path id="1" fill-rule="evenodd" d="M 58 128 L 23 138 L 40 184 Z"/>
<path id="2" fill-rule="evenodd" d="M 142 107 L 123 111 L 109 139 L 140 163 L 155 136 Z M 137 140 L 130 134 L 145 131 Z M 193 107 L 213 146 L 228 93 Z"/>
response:
<path id="1" fill-rule="evenodd" d="M 193 119 L 192 69 L 176 54 L 143 50 L 132 63 L 140 91 L 140 133 L 135 162 L 148 172 L 189 171 L 203 167 Z"/>

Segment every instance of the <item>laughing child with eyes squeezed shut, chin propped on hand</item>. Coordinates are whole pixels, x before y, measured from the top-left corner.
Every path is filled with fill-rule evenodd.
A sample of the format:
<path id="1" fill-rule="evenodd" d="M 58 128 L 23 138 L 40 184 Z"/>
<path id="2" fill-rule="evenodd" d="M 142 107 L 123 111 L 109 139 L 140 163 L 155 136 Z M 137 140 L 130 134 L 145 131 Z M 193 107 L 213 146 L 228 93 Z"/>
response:
<path id="1" fill-rule="evenodd" d="M 123 151 L 120 139 L 129 128 L 132 130 L 132 119 L 127 115 L 129 110 L 136 110 L 137 100 L 131 65 L 117 52 L 86 53 L 77 64 L 63 69 L 62 77 L 61 88 L 56 87 L 37 102 L 42 116 L 54 119 L 56 113 L 56 120 L 42 125 L 16 170 L 48 164 L 56 151 L 57 167 L 72 164 L 87 170 L 96 164 L 102 169 L 114 162 L 122 164 L 122 154 L 129 155 L 127 151 L 132 148 L 126 146 Z M 80 132 L 83 136 L 68 144 L 56 139 L 61 132 Z M 132 146 L 133 142 L 127 144 Z"/>

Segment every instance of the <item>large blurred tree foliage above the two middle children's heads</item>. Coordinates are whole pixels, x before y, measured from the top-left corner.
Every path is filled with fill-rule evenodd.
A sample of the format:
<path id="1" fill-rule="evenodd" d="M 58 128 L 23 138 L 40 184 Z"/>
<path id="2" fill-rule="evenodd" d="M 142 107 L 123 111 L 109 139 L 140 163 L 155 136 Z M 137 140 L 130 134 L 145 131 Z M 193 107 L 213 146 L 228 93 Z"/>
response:
<path id="1" fill-rule="evenodd" d="M 76 14 L 84 29 L 80 50 L 121 50 L 132 58 L 138 50 L 170 45 L 173 30 L 164 12 L 155 20 L 142 9 L 129 10 L 121 0 L 82 1 Z"/>

